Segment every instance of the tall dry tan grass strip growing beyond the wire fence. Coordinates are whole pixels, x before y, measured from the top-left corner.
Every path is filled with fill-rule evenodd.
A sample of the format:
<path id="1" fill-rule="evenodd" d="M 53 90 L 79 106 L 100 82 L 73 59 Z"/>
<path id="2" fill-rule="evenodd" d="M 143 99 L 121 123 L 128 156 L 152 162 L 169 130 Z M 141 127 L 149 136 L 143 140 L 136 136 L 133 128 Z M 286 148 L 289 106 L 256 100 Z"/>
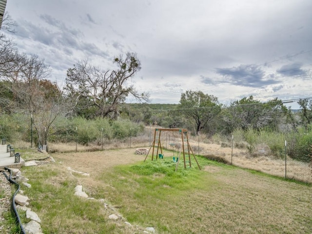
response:
<path id="1" fill-rule="evenodd" d="M 131 148 L 149 148 L 154 137 L 154 129 L 146 129 L 147 133 L 143 136 L 132 137 L 131 139 Z M 149 132 L 151 131 L 151 132 Z M 198 137 L 191 137 L 190 144 L 192 146 L 193 152 L 197 155 L 198 152 L 200 155 L 207 156 L 211 159 L 218 159 L 218 161 L 223 161 L 231 163 L 238 167 L 248 168 L 260 172 L 264 172 L 273 176 L 285 177 L 285 159 L 276 158 L 266 155 L 253 155 L 251 156 L 246 149 L 242 148 L 243 142 L 236 143 L 234 142 L 233 155 L 232 155 L 232 145 L 229 143 L 222 142 L 221 139 L 218 140 L 217 144 L 212 141 L 212 139 L 206 138 L 204 135 L 199 137 L 199 150 L 198 150 Z M 161 136 L 162 146 L 164 148 L 170 148 L 169 143 L 175 142 L 179 143 L 180 135 L 179 134 L 168 134 L 164 133 Z M 28 145 L 27 145 L 28 144 Z M 29 147 L 27 142 L 17 142 L 20 148 Z M 57 152 L 93 152 L 111 149 L 126 149 L 130 147 L 130 138 L 123 141 L 120 140 L 111 140 L 106 142 L 103 147 L 96 143 L 90 143 L 88 146 L 77 145 L 76 143 L 49 143 L 49 151 L 53 153 Z M 262 147 L 263 148 L 263 147 Z M 312 183 L 312 170 L 309 168 L 308 163 L 298 162 L 287 158 L 287 178 L 296 179 L 308 183 Z"/>

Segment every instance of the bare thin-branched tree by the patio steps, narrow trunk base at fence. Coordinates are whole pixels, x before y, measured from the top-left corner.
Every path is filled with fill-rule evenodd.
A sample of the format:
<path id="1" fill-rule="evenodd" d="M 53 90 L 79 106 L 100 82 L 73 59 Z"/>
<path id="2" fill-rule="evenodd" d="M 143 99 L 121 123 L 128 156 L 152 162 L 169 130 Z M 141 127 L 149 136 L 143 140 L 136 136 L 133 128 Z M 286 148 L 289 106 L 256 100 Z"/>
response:
<path id="1" fill-rule="evenodd" d="M 19 67 L 5 73 L 7 89 L 13 94 L 16 112 L 24 112 L 32 117 L 39 145 L 47 144 L 47 138 L 54 120 L 65 115 L 66 101 L 56 83 L 49 78 L 50 69 L 37 55 L 19 55 Z M 13 107 L 12 107 L 13 108 Z"/>

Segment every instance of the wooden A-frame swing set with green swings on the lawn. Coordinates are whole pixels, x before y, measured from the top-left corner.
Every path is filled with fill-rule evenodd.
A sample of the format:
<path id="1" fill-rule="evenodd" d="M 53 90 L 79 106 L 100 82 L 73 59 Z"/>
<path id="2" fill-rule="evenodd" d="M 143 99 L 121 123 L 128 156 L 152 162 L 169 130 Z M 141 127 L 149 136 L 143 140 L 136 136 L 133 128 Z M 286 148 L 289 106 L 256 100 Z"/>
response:
<path id="1" fill-rule="evenodd" d="M 184 162 L 184 168 L 186 168 L 186 164 L 188 163 L 189 164 L 189 167 L 192 167 L 192 164 L 191 164 L 191 153 L 192 155 L 194 156 L 195 158 L 195 161 L 197 163 L 197 166 L 200 169 L 200 166 L 198 164 L 198 161 L 193 153 L 193 150 L 191 148 L 191 145 L 189 143 L 189 136 L 188 136 L 188 131 L 187 129 L 180 129 L 180 128 L 156 128 L 155 129 L 155 132 L 154 132 L 154 140 L 153 140 L 153 143 L 144 159 L 144 162 L 147 158 L 147 156 L 149 155 L 152 147 L 153 147 L 153 150 L 152 150 L 152 161 L 154 159 L 154 153 L 156 151 L 156 160 L 157 158 L 163 158 L 163 153 L 162 153 L 162 148 L 161 148 L 161 141 L 160 141 L 160 136 L 161 136 L 161 132 L 164 132 L 164 131 L 167 131 L 167 132 L 178 132 L 179 135 L 181 136 L 181 144 L 177 144 L 177 149 L 178 149 L 178 156 L 177 158 L 175 159 L 174 157 L 174 161 L 176 162 L 176 170 L 178 168 L 178 164 L 179 164 L 179 161 L 180 161 L 180 158 L 181 158 L 181 152 L 182 152 L 182 156 L 183 156 L 183 162 Z M 158 133 L 158 134 L 157 134 Z M 184 134 L 185 134 L 185 137 L 184 137 Z M 171 143 L 169 143 L 171 145 Z M 175 144 L 172 144 L 175 146 Z M 155 150 L 155 148 L 157 150 Z M 160 151 L 160 153 L 159 153 Z"/>

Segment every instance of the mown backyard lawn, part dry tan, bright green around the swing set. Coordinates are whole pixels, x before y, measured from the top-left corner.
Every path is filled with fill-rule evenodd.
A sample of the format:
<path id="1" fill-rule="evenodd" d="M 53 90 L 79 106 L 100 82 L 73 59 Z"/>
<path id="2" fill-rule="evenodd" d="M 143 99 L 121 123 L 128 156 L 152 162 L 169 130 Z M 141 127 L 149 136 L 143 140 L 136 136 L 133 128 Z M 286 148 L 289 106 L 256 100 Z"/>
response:
<path id="1" fill-rule="evenodd" d="M 146 227 L 158 234 L 312 233 L 311 185 L 202 157 L 202 170 L 193 160 L 192 168 L 180 162 L 175 172 L 166 151 L 164 159 L 145 162 L 134 149 L 52 156 L 56 163 L 22 168 L 43 233 L 133 234 Z M 95 199 L 76 197 L 76 185 Z M 113 213 L 123 218 L 109 219 Z"/>

